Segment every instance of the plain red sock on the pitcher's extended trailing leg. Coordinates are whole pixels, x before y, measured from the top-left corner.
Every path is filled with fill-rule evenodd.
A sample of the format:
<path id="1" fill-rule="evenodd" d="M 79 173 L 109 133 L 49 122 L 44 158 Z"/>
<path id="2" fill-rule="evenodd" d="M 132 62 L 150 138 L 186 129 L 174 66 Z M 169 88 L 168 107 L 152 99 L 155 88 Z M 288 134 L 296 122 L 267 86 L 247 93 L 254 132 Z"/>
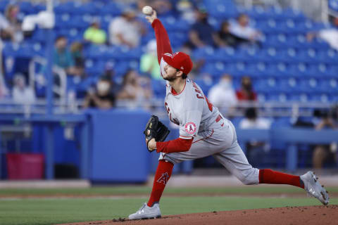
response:
<path id="1" fill-rule="evenodd" d="M 289 184 L 304 188 L 300 176 L 284 174 L 272 169 L 259 169 L 259 184 Z"/>

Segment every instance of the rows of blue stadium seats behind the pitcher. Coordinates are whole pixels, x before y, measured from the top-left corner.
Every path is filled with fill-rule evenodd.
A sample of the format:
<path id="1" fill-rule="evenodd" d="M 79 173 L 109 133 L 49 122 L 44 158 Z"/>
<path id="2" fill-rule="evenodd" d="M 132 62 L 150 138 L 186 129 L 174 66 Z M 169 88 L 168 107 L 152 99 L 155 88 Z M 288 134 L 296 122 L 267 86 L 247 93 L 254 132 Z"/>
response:
<path id="1" fill-rule="evenodd" d="M 8 2 L 0 1 L 1 11 L 4 11 Z M 332 9 L 337 8 L 337 1 L 329 2 Z M 239 80 L 243 75 L 251 76 L 254 89 L 265 101 L 327 102 L 338 98 L 337 51 L 330 49 L 330 46 L 320 39 L 311 42 L 306 39 L 306 32 L 321 29 L 325 25 L 309 20 L 303 13 L 292 8 L 255 6 L 248 11 L 235 5 L 233 1 L 221 0 L 205 0 L 204 6 L 210 17 L 209 22 L 216 29 L 219 29 L 223 20 L 234 19 L 239 13 L 247 13 L 252 20 L 251 23 L 264 34 L 261 46 L 237 49 L 214 49 L 208 46 L 194 50 L 192 53 L 194 60 L 205 60 L 201 72 L 213 77 L 212 83 L 201 84 L 205 92 L 226 72 L 235 80 Z M 20 1 L 21 18 L 44 8 L 42 4 Z M 109 22 L 120 15 L 122 10 L 123 7 L 115 1 L 89 1 L 85 4 L 78 1 L 56 1 L 55 37 L 64 35 L 68 37 L 70 43 L 81 41 L 84 30 L 93 19 L 101 21 L 103 29 L 108 32 Z M 173 48 L 180 49 L 188 39 L 189 23 L 173 15 L 162 17 L 161 20 L 168 30 Z M 146 26 L 150 29 L 149 25 Z M 86 84 L 84 86 L 95 82 L 104 72 L 104 65 L 108 60 L 115 63 L 115 74 L 118 79 L 130 68 L 138 70 L 139 57 L 144 53 L 143 46 L 150 39 L 154 39 L 153 32 L 142 37 L 141 47 L 132 50 L 120 46 L 85 46 L 85 70 L 89 78 L 82 81 Z M 45 42 L 44 30 L 37 28 L 32 37 L 20 46 L 6 43 L 4 57 L 6 59 L 44 56 Z M 6 75 L 7 82 L 11 78 L 11 75 Z M 203 82 L 203 79 L 197 80 Z M 153 83 L 154 93 L 162 98 L 163 91 L 157 90 L 158 82 Z M 68 86 L 75 90 L 83 89 L 83 86 L 80 88 L 70 80 Z M 268 91 L 274 94 L 269 96 Z"/>

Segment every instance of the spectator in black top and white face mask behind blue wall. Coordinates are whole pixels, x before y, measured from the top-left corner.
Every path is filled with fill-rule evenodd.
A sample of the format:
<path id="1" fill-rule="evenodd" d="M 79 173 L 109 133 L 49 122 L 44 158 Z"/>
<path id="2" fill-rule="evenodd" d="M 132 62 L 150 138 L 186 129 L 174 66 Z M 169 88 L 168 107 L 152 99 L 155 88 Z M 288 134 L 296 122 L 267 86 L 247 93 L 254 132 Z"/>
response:
<path id="1" fill-rule="evenodd" d="M 111 80 L 101 77 L 96 89 L 89 89 L 84 98 L 83 108 L 110 109 L 115 105 L 115 95 L 111 91 Z"/>

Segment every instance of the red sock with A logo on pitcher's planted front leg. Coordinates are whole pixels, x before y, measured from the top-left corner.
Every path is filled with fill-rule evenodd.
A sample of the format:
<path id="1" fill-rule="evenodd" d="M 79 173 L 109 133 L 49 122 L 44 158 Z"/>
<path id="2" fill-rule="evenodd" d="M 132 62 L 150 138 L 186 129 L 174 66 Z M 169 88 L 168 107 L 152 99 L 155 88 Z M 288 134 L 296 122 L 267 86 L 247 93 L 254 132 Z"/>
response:
<path id="1" fill-rule="evenodd" d="M 149 207 L 152 207 L 154 203 L 158 203 L 160 201 L 165 184 L 167 184 L 171 176 L 171 172 L 173 172 L 173 167 L 174 165 L 171 162 L 167 162 L 165 160 L 158 161 L 156 174 L 154 176 L 153 190 L 151 191 L 151 195 L 147 203 Z"/>

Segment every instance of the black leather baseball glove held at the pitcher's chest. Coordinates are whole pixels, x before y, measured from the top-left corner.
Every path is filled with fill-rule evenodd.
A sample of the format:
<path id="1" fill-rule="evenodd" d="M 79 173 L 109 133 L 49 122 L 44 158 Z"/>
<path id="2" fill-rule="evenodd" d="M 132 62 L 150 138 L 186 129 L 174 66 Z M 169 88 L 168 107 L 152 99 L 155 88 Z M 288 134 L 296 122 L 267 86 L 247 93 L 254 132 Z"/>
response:
<path id="1" fill-rule="evenodd" d="M 155 141 L 164 141 L 169 133 L 170 130 L 168 127 L 165 127 L 165 125 L 158 120 L 156 115 L 151 115 L 150 119 L 146 123 L 146 129 L 143 132 L 147 140 L 146 148 L 148 148 L 148 143 L 151 139 L 155 139 Z M 153 150 L 149 150 L 149 152 L 152 151 Z"/>

